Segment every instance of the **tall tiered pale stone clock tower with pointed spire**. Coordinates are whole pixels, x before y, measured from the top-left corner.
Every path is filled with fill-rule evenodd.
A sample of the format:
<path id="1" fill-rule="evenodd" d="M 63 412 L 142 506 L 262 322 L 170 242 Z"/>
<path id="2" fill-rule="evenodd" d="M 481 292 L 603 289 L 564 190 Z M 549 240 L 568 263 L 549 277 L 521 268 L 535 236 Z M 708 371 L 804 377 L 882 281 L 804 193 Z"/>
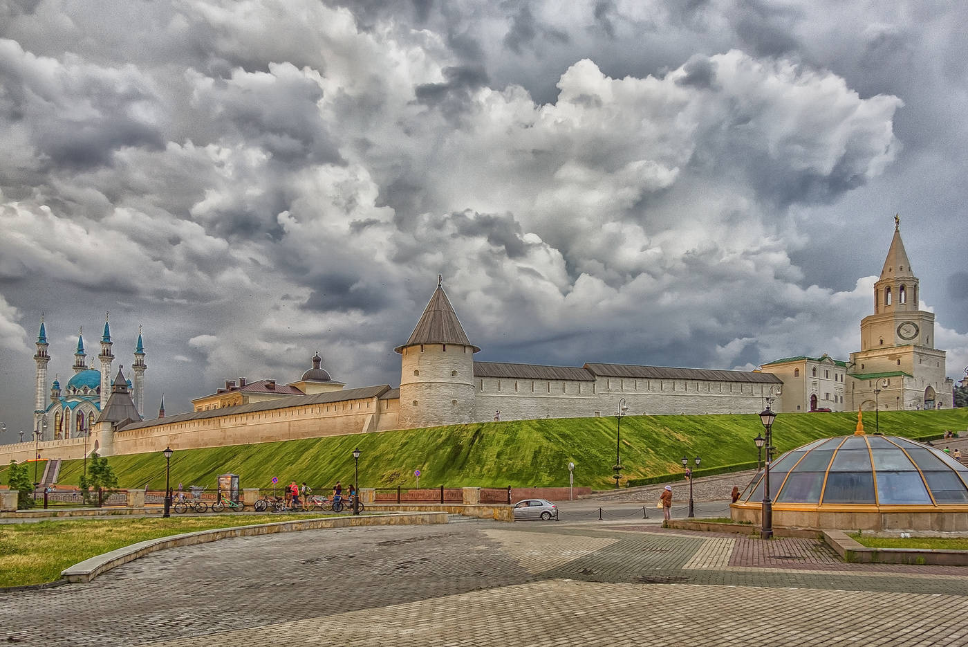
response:
<path id="1" fill-rule="evenodd" d="M 848 364 L 853 409 L 952 406 L 945 352 L 934 348 L 934 313 L 921 310 L 919 298 L 918 277 L 894 216 L 891 249 L 874 283 L 874 314 L 862 319 L 861 351 Z"/>

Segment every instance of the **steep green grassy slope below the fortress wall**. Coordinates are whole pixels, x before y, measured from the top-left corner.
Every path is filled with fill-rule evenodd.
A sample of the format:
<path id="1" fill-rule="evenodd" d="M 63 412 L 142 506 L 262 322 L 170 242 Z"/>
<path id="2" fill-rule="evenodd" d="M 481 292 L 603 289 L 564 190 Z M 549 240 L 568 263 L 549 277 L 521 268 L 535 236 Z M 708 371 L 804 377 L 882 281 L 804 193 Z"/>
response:
<path id="1" fill-rule="evenodd" d="M 864 416 L 874 431 L 874 416 Z M 781 451 L 816 438 L 851 434 L 857 414 L 787 414 L 773 424 L 773 445 Z M 968 409 L 882 412 L 881 432 L 918 437 L 964 432 Z M 752 439 L 763 432 L 759 416 L 626 416 L 621 422 L 621 462 L 627 478 L 646 478 L 681 471 L 681 457 L 699 455 L 703 467 L 756 460 Z M 214 486 L 227 472 L 238 474 L 243 487 L 269 487 L 270 479 L 303 480 L 328 486 L 353 476 L 354 447 L 360 456 L 360 483 L 371 487 L 420 484 L 446 486 L 567 485 L 568 461 L 575 463 L 575 484 L 614 485 L 615 417 L 516 420 L 408 429 L 377 434 L 213 447 L 179 451 L 171 458 L 171 480 Z M 123 487 L 165 487 L 161 452 L 112 456 L 110 465 Z M 76 484 L 81 461 L 65 461 L 59 484 Z"/>

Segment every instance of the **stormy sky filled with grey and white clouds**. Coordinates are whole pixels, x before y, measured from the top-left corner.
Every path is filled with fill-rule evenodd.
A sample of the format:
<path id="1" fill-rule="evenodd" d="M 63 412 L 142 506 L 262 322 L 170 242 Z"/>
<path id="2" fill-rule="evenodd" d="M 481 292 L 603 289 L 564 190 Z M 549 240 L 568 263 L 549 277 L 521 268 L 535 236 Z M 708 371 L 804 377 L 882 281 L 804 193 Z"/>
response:
<path id="1" fill-rule="evenodd" d="M 0 0 L 0 422 L 106 312 L 145 413 L 476 359 L 860 350 L 893 216 L 968 365 L 968 4 Z"/>

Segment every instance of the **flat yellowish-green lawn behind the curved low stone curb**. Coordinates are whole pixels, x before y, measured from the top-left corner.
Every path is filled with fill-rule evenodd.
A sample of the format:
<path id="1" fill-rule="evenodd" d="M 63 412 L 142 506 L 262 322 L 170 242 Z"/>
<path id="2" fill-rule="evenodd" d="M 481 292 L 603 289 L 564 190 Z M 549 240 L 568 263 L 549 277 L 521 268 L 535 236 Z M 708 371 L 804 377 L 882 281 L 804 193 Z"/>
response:
<path id="1" fill-rule="evenodd" d="M 0 526 L 0 587 L 52 582 L 69 566 L 146 539 L 300 518 L 307 517 L 239 514 L 5 524 Z"/>

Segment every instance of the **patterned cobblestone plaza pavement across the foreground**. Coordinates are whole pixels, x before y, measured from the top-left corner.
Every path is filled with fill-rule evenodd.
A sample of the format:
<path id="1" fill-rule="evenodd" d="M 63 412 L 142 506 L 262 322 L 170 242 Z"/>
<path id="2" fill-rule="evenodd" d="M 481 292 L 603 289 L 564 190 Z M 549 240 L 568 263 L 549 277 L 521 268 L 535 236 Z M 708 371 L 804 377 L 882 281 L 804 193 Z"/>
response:
<path id="1" fill-rule="evenodd" d="M 389 526 L 173 548 L 0 594 L 21 645 L 965 645 L 968 568 L 646 523 Z"/>

